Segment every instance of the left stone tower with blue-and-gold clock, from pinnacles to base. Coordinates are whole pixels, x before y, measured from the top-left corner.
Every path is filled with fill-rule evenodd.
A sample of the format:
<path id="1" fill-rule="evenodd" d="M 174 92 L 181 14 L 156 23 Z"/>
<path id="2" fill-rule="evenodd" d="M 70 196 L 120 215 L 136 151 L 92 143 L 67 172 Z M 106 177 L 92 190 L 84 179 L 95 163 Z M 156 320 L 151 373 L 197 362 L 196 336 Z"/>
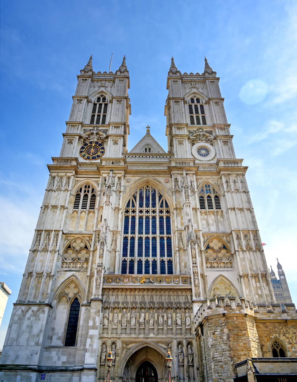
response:
<path id="1" fill-rule="evenodd" d="M 91 56 L 77 77 L 60 157 L 48 166 L 0 380 L 21 374 L 22 380 L 35 381 L 51 370 L 68 370 L 69 380 L 95 380 L 101 275 L 114 273 L 119 250 L 123 173 L 112 167 L 127 152 L 130 80 L 125 57 L 115 73 L 95 73 Z M 114 251 L 107 256 L 108 243 Z"/>

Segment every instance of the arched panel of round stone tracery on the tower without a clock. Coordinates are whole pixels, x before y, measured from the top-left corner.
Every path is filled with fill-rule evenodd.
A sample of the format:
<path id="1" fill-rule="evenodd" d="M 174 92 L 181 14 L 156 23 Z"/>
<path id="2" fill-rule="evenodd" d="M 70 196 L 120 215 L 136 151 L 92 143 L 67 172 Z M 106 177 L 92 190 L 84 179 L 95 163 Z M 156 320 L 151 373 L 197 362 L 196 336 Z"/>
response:
<path id="1" fill-rule="evenodd" d="M 232 268 L 232 258 L 229 249 L 214 238 L 209 241 L 204 251 L 206 268 Z"/>

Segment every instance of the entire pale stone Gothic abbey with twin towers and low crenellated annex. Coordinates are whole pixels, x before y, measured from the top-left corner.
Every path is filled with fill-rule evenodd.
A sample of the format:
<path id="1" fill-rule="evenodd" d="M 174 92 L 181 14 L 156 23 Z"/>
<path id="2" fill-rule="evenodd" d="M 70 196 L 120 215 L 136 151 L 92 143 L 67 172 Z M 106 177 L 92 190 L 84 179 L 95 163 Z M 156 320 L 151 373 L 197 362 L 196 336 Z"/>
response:
<path id="1" fill-rule="evenodd" d="M 278 326 L 268 338 L 261 317 L 284 319 L 216 72 L 205 59 L 204 73 L 182 74 L 172 58 L 166 151 L 149 126 L 127 151 L 129 87 L 125 57 L 115 73 L 95 73 L 91 57 L 78 75 L 3 380 L 103 382 L 110 349 L 113 382 L 164 381 L 169 349 L 173 380 L 231 381 L 236 362 L 274 354 Z M 292 338 L 275 340 L 278 354 Z"/>

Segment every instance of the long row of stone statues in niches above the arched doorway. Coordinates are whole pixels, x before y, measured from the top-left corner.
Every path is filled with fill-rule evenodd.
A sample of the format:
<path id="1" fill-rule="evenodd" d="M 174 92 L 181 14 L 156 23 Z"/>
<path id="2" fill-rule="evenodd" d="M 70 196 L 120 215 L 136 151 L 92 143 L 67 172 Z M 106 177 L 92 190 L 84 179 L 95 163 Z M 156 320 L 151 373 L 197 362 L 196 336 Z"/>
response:
<path id="1" fill-rule="evenodd" d="M 167 327 L 168 328 L 172 327 L 172 313 L 174 312 L 171 312 L 170 310 L 165 312 L 164 310 L 159 309 L 159 311 L 157 311 L 158 327 L 160 328 L 164 327 L 164 318 L 167 319 Z M 110 314 L 109 310 L 105 309 L 103 314 L 103 327 L 108 327 L 109 314 Z M 154 312 L 153 309 L 151 309 L 148 313 L 148 326 L 150 328 L 153 328 L 155 325 L 155 315 L 156 313 Z M 127 318 L 128 318 L 128 313 L 126 309 L 123 309 L 121 312 L 121 317 L 120 317 L 120 324 L 123 328 L 127 327 Z M 137 312 L 136 310 L 132 310 L 130 315 L 131 328 L 136 327 L 136 319 L 137 319 Z M 112 315 L 112 327 L 118 327 L 118 320 L 119 320 L 119 312 L 115 310 Z M 139 320 L 139 327 L 144 328 L 146 325 L 146 312 L 144 309 L 140 309 L 138 320 Z M 182 327 L 182 312 L 179 309 L 176 309 L 175 311 L 175 325 L 177 328 Z M 191 314 L 189 309 L 185 309 L 185 326 L 186 328 L 191 327 Z"/>

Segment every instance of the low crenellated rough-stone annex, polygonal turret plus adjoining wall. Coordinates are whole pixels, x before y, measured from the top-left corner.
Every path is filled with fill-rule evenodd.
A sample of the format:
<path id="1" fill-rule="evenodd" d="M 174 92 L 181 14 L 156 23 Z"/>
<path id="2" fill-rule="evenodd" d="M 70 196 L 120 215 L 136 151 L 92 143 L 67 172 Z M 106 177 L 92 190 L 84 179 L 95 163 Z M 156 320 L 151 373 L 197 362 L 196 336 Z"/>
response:
<path id="1" fill-rule="evenodd" d="M 200 369 L 208 380 L 231 382 L 236 363 L 246 358 L 272 357 L 275 338 L 284 345 L 287 357 L 296 357 L 296 308 L 285 304 L 285 309 L 281 310 L 280 304 L 255 306 L 243 298 L 205 300 L 194 321 Z"/>

